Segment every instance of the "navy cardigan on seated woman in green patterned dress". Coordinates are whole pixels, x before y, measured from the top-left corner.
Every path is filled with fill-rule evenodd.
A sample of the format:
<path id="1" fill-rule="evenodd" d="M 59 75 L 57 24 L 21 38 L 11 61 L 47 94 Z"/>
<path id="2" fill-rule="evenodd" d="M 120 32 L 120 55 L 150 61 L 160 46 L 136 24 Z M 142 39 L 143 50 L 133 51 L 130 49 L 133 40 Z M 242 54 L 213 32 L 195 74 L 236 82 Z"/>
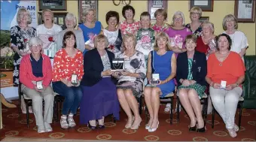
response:
<path id="1" fill-rule="evenodd" d="M 197 81 L 201 86 L 206 86 L 207 62 L 206 54 L 200 53 L 195 50 L 193 63 L 191 68 L 193 80 Z M 181 86 L 180 79 L 187 79 L 188 74 L 188 61 L 187 52 L 179 53 L 177 58 L 177 73 L 176 80 L 178 86 Z"/>

